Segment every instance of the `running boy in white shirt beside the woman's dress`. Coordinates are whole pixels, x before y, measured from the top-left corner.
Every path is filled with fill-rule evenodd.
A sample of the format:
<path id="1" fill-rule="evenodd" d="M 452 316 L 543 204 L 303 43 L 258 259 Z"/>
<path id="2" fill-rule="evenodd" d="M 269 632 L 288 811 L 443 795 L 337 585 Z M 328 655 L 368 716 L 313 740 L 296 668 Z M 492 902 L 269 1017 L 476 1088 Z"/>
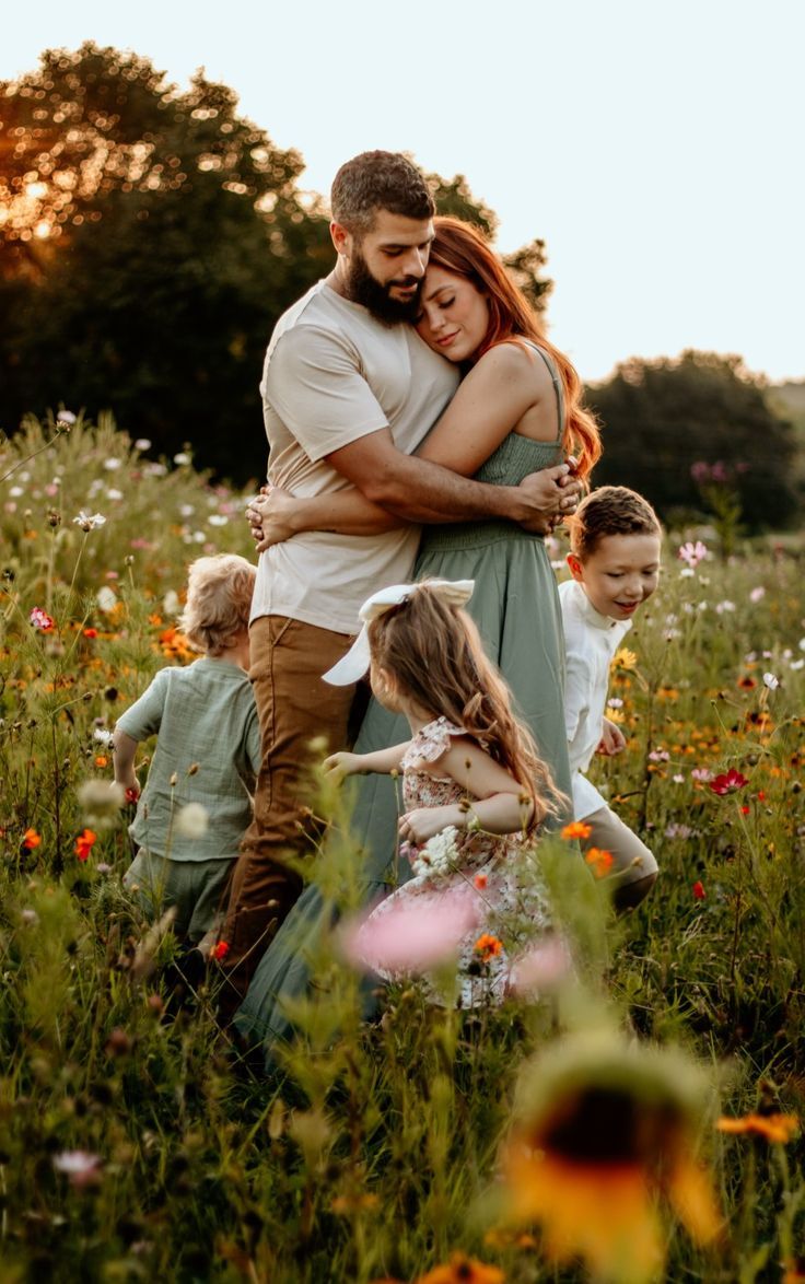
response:
<path id="1" fill-rule="evenodd" d="M 638 905 L 657 878 L 648 847 L 607 806 L 584 776 L 593 754 L 619 754 L 625 737 L 605 718 L 610 663 L 660 575 L 662 532 L 642 496 L 627 487 L 600 487 L 570 524 L 567 566 L 560 584 L 567 674 L 565 724 L 573 773 L 573 814 L 588 828 L 582 849 L 612 856 L 616 909 Z"/>

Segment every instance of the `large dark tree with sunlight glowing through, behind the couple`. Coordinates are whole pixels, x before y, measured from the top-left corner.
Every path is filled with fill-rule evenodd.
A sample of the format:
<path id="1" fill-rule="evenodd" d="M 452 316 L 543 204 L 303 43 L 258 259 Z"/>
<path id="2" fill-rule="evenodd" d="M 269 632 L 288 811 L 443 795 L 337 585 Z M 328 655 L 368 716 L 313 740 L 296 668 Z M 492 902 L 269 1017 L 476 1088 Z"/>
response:
<path id="1" fill-rule="evenodd" d="M 48 50 L 0 83 L 3 428 L 48 407 L 110 408 L 122 428 L 247 480 L 264 470 L 257 384 L 281 312 L 333 263 L 303 160 L 198 72 L 178 90 L 146 58 Z M 497 220 L 462 176 L 439 209 Z M 517 270 L 538 307 L 537 241 Z"/>

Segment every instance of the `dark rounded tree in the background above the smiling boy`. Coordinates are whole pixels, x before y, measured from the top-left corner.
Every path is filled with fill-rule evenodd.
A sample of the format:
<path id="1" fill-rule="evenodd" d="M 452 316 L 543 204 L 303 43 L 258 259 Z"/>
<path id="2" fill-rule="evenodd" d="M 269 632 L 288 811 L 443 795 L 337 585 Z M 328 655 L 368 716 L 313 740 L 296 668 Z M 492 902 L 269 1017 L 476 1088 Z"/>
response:
<path id="1" fill-rule="evenodd" d="M 734 488 L 751 529 L 790 521 L 796 440 L 761 379 L 734 356 L 683 352 L 623 362 L 587 390 L 601 419 L 594 480 L 641 490 L 662 515 L 701 510 L 702 473 Z M 710 465 L 710 470 L 696 465 Z"/>

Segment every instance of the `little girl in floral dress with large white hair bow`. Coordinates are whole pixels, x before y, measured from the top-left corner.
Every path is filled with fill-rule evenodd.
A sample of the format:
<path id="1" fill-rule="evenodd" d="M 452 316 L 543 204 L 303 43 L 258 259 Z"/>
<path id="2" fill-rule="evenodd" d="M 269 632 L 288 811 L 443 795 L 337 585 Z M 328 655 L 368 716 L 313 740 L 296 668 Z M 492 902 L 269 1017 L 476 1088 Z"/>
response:
<path id="1" fill-rule="evenodd" d="M 448 907 L 454 917 L 460 905 L 467 924 L 456 945 L 461 1007 L 499 1002 L 516 954 L 548 927 L 533 838 L 558 801 L 461 609 L 471 592 L 471 580 L 424 580 L 363 603 L 365 630 L 338 668 L 365 670 L 368 651 L 372 692 L 404 714 L 412 738 L 371 754 L 333 754 L 325 763 L 339 779 L 402 776 L 401 855 L 415 877 L 375 908 L 366 940 L 403 905 L 411 913 L 443 905 L 446 918 Z M 368 944 L 365 960 L 386 980 L 402 975 L 384 968 Z"/>

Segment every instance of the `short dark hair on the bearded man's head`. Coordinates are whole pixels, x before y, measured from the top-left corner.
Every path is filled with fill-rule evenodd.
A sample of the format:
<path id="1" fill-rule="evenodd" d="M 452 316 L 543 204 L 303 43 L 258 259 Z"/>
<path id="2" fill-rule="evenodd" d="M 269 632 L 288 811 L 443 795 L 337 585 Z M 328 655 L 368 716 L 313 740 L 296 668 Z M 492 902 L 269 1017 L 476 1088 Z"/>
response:
<path id="1" fill-rule="evenodd" d="M 379 209 L 404 218 L 433 218 L 425 178 L 399 152 L 362 152 L 338 171 L 330 194 L 336 223 L 356 236 L 372 230 Z"/>

